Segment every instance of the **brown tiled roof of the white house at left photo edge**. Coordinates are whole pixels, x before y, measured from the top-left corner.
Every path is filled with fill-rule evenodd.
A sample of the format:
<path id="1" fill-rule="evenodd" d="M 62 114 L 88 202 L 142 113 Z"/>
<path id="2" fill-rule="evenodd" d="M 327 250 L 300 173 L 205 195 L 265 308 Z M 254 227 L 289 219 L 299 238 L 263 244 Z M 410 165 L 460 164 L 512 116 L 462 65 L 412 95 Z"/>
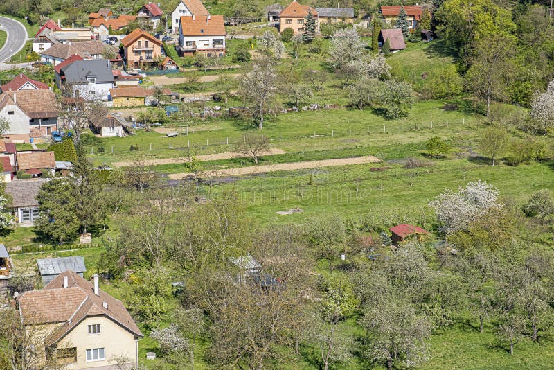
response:
<path id="1" fill-rule="evenodd" d="M 3 91 L 30 118 L 57 117 L 56 95 L 51 90 Z M 15 98 L 14 98 L 15 97 Z M 1 99 L 0 99 L 1 101 Z"/>

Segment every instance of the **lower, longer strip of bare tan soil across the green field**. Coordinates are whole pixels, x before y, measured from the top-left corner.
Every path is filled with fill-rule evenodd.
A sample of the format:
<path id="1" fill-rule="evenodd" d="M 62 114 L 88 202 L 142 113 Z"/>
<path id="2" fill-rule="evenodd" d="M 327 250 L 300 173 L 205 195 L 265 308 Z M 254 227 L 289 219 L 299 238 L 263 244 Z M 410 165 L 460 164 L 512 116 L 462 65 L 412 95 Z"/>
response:
<path id="1" fill-rule="evenodd" d="M 264 166 L 249 166 L 241 168 L 226 168 L 224 170 L 217 171 L 217 177 L 234 176 L 234 175 L 252 175 L 254 173 L 268 173 L 274 171 L 288 171 L 288 170 L 304 170 L 307 168 L 318 167 L 332 167 L 332 166 L 349 166 L 353 164 L 368 164 L 377 163 L 381 161 L 373 155 L 366 155 L 364 157 L 352 157 L 352 158 L 339 158 L 339 159 L 323 159 L 321 161 L 304 161 L 294 163 L 282 163 Z M 172 173 L 168 177 L 172 180 L 184 179 L 187 176 L 193 175 L 192 173 Z"/>

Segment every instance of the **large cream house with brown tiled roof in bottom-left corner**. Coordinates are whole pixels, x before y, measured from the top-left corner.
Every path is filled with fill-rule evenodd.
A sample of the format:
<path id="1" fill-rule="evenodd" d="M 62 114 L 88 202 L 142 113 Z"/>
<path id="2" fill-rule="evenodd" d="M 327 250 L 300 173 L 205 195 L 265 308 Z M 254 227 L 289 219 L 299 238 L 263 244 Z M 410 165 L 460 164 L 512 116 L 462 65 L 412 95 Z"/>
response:
<path id="1" fill-rule="evenodd" d="M 114 358 L 129 360 L 119 369 L 139 367 L 143 334 L 123 303 L 100 290 L 98 275 L 91 284 L 62 272 L 42 290 L 19 294 L 16 308 L 29 332 L 39 333 L 33 338 L 37 368 L 52 360 L 66 369 L 113 369 Z"/>

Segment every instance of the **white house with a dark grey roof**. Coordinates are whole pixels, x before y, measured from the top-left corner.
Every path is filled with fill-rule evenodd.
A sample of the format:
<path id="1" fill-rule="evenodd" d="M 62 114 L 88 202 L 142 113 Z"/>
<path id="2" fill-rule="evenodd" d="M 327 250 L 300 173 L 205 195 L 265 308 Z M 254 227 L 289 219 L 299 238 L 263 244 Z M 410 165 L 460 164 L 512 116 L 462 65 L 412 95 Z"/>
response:
<path id="1" fill-rule="evenodd" d="M 114 87 L 114 74 L 109 60 L 75 60 L 56 73 L 56 83 L 62 91 L 86 100 L 109 100 Z"/>

